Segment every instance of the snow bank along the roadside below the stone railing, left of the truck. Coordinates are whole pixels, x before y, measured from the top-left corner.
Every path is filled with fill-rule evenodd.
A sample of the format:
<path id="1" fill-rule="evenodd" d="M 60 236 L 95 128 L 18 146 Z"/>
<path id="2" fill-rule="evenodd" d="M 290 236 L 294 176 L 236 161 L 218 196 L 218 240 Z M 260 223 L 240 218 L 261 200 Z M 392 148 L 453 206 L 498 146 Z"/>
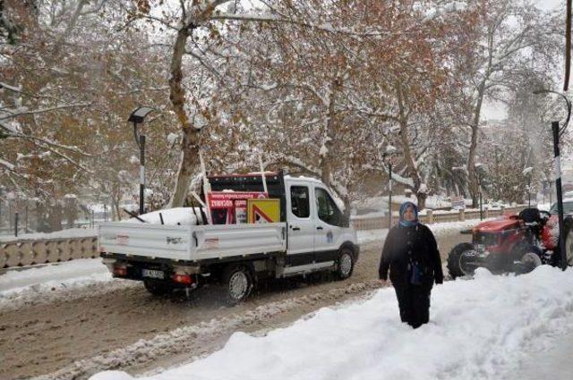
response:
<path id="1" fill-rule="evenodd" d="M 59 287 L 70 288 L 111 279 L 111 274 L 107 266 L 101 263 L 101 258 L 78 258 L 46 266 L 14 268 L 0 275 L 0 300 L 13 298 L 27 291 L 52 291 Z"/>

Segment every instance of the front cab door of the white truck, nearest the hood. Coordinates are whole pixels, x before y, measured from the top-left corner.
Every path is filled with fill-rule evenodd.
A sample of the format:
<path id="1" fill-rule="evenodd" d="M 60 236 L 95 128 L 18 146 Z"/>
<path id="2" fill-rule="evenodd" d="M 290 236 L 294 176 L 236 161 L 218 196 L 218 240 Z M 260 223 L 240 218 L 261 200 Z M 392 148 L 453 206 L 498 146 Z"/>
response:
<path id="1" fill-rule="evenodd" d="M 314 187 L 314 252 L 317 261 L 326 261 L 336 257 L 342 236 L 343 214 L 329 191 Z"/>

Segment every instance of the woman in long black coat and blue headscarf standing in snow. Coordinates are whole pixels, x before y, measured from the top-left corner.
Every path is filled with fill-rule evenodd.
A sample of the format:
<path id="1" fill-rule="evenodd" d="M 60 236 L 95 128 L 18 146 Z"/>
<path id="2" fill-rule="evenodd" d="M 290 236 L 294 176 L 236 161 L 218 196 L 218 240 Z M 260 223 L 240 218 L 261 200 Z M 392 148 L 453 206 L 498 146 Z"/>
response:
<path id="1" fill-rule="evenodd" d="M 412 202 L 400 207 L 400 222 L 392 227 L 382 249 L 380 279 L 396 291 L 400 318 L 414 328 L 430 319 L 430 294 L 434 281 L 443 282 L 438 245 L 430 229 L 418 222 Z"/>

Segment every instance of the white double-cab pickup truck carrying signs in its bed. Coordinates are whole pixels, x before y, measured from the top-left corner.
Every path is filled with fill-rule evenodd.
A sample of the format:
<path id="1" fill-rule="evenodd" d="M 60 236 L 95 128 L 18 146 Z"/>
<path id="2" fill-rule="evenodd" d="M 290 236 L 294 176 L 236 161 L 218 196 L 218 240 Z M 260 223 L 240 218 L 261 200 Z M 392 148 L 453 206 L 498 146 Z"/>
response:
<path id="1" fill-rule="evenodd" d="M 260 174 L 209 180 L 217 191 L 263 187 Z M 329 189 L 318 180 L 282 172 L 267 173 L 266 183 L 269 198 L 280 199 L 279 223 L 106 223 L 99 225 L 99 252 L 115 277 L 143 281 L 153 294 L 217 282 L 227 286 L 232 303 L 244 300 L 265 278 L 315 271 L 349 277 L 360 249 Z M 189 213 L 198 215 L 192 207 Z"/>

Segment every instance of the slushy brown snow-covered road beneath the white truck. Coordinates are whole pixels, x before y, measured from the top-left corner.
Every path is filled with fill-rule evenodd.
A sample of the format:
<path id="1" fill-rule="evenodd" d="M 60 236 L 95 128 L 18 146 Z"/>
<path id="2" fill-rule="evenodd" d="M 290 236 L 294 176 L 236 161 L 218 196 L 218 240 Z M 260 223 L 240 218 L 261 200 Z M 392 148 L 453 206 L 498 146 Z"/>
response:
<path id="1" fill-rule="evenodd" d="M 444 256 L 468 239 L 458 231 L 471 224 L 432 225 Z M 349 280 L 278 283 L 236 308 L 212 288 L 152 297 L 141 283 L 112 279 L 99 259 L 10 270 L 0 275 L 0 378 L 85 378 L 116 366 L 141 374 L 218 350 L 237 330 L 288 325 L 317 308 L 361 298 L 378 286 L 385 233 L 360 232 L 362 254 Z"/>

